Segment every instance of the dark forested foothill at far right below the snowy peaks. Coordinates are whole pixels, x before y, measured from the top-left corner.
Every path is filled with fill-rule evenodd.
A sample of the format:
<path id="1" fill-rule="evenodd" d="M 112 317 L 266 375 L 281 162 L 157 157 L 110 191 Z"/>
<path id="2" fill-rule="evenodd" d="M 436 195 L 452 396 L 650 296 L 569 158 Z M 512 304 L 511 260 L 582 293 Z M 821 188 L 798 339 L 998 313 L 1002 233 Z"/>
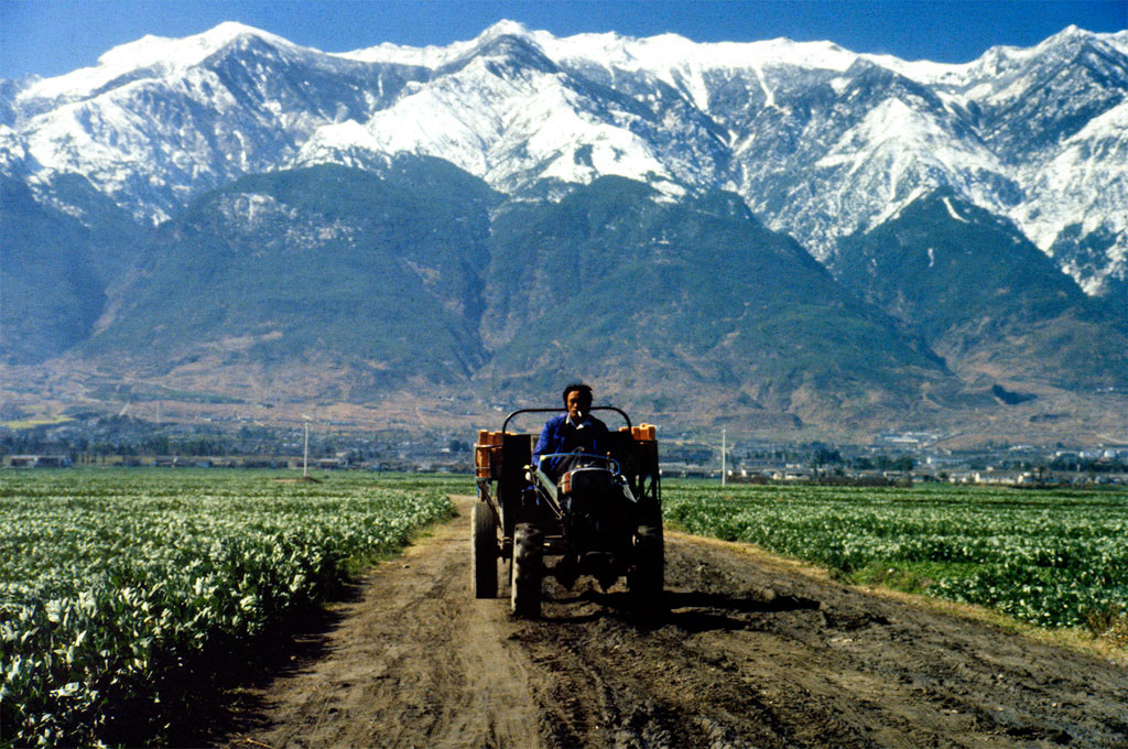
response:
<path id="1" fill-rule="evenodd" d="M 964 377 L 1087 389 L 1128 379 L 1128 320 L 951 191 L 849 238 L 835 273 Z"/>

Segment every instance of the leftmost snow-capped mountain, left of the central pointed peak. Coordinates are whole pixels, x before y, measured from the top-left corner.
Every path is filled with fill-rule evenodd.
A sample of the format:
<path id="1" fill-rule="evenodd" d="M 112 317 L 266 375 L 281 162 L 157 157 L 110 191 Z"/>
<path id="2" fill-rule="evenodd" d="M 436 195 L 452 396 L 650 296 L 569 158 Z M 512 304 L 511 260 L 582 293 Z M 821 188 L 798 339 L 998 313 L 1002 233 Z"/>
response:
<path id="1" fill-rule="evenodd" d="M 157 222 L 212 187 L 287 164 L 321 125 L 365 120 L 412 78 L 232 23 L 144 37 L 94 68 L 9 81 L 3 164 L 37 185 L 83 175 Z"/>

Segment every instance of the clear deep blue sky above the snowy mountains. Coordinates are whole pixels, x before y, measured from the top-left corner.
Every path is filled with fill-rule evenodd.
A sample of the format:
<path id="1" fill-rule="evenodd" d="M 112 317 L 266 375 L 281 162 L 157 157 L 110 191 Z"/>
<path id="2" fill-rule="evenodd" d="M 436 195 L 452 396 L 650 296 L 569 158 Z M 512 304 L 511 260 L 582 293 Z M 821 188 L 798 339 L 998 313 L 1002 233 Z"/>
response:
<path id="1" fill-rule="evenodd" d="M 1069 24 L 1128 28 L 1128 0 L 0 0 L 0 78 L 58 76 L 146 34 L 238 20 L 326 52 L 448 44 L 502 18 L 557 36 L 672 32 L 697 42 L 786 36 L 854 52 L 968 62 Z"/>

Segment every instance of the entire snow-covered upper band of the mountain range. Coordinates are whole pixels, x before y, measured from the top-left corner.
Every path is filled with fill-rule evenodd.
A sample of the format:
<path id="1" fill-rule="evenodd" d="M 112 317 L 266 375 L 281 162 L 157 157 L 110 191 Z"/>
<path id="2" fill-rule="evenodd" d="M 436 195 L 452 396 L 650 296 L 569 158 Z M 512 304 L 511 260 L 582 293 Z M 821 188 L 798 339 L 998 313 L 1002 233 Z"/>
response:
<path id="1" fill-rule="evenodd" d="M 844 237 L 946 186 L 1099 294 L 1128 270 L 1128 32 L 1070 27 L 950 65 L 511 21 L 328 54 L 228 23 L 0 85 L 0 168 L 41 196 L 83 175 L 148 221 L 245 174 L 404 152 L 509 194 L 602 175 L 670 199 L 734 190 L 829 264 Z"/>

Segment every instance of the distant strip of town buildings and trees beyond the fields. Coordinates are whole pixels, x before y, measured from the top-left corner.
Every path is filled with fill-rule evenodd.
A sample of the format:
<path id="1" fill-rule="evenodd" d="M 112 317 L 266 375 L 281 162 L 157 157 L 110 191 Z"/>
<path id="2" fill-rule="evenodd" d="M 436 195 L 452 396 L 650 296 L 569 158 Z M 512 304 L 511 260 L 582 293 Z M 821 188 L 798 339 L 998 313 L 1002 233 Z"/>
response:
<path id="1" fill-rule="evenodd" d="M 925 482 L 1015 486 L 1128 485 L 1128 443 L 937 447 L 942 435 L 882 434 L 871 444 L 729 441 L 663 434 L 662 474 L 732 483 Z M 314 424 L 294 429 L 153 423 L 90 416 L 0 426 L 3 468 L 82 466 L 274 468 L 473 474 L 473 435 L 389 430 L 358 434 Z"/>

